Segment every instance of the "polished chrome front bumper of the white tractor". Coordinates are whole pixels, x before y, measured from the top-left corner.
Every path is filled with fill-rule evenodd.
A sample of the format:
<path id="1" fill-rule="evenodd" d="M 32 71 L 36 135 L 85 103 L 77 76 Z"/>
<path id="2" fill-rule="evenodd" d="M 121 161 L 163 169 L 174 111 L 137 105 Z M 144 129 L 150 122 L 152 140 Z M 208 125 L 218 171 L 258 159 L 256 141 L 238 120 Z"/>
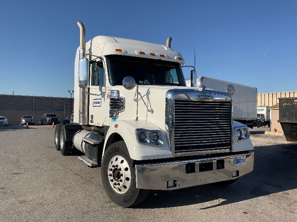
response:
<path id="1" fill-rule="evenodd" d="M 244 155 L 246 156 L 246 163 L 244 165 L 234 166 L 233 158 Z M 224 168 L 218 169 L 222 167 L 222 162 Z M 188 172 L 186 172 L 186 169 Z M 149 190 L 180 189 L 236 179 L 251 172 L 253 169 L 254 153 L 154 164 L 141 164 L 135 165 L 136 187 L 139 189 Z M 237 176 L 232 177 L 232 171 L 237 171 Z M 176 186 L 168 188 L 167 182 L 171 180 L 176 181 Z"/>

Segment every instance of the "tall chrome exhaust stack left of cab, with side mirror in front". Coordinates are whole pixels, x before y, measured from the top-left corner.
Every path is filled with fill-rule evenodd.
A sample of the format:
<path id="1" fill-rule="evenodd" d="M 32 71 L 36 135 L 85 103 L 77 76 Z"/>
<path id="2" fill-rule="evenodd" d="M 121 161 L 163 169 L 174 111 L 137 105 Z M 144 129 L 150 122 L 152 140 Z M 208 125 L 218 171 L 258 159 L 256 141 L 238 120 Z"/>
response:
<path id="1" fill-rule="evenodd" d="M 77 26 L 80 30 L 80 48 L 78 60 L 78 86 L 79 86 L 79 125 L 88 124 L 88 95 L 86 87 L 88 86 L 89 60 L 85 57 L 85 26 L 78 21 Z"/>

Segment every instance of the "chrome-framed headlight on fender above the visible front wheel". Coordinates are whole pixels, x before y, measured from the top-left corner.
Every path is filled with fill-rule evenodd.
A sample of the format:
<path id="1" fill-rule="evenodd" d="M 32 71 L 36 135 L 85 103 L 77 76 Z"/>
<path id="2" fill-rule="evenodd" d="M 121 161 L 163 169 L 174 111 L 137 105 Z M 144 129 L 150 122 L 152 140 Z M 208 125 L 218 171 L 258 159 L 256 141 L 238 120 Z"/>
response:
<path id="1" fill-rule="evenodd" d="M 137 129 L 136 138 L 141 144 L 150 146 L 163 146 L 161 130 Z"/>

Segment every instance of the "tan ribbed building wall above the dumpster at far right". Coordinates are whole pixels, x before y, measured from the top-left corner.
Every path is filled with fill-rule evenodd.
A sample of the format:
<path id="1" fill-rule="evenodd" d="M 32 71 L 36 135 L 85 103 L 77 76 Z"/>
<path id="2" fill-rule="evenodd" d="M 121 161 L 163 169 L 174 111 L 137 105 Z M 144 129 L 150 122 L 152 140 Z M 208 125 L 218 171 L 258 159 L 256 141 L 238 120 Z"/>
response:
<path id="1" fill-rule="evenodd" d="M 257 106 L 273 106 L 279 103 L 278 98 L 280 97 L 297 97 L 297 91 L 258 93 Z"/>

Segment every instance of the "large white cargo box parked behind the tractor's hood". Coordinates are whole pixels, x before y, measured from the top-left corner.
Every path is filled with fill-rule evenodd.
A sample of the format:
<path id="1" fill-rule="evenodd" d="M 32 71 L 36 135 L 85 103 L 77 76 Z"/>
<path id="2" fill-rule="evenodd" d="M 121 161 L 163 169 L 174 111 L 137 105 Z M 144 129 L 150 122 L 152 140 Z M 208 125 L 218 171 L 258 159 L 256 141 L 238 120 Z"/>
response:
<path id="1" fill-rule="evenodd" d="M 190 86 L 190 79 L 186 79 L 187 86 Z M 212 79 L 205 76 L 197 78 L 197 85 L 205 85 L 208 89 L 226 91 L 228 85 L 233 85 L 235 93 L 233 97 L 233 120 L 253 128 L 257 121 L 257 88 L 241 85 L 234 82 L 227 82 L 219 79 Z"/>

